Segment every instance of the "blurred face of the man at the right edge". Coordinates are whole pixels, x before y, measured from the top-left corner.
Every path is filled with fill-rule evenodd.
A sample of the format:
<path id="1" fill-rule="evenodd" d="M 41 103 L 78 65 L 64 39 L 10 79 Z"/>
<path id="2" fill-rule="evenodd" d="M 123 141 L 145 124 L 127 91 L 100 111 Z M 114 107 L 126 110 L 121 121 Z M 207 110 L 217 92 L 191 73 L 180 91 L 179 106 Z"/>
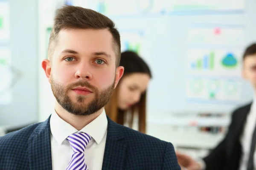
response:
<path id="1" fill-rule="evenodd" d="M 244 59 L 243 76 L 256 88 L 256 54 L 247 56 Z"/>

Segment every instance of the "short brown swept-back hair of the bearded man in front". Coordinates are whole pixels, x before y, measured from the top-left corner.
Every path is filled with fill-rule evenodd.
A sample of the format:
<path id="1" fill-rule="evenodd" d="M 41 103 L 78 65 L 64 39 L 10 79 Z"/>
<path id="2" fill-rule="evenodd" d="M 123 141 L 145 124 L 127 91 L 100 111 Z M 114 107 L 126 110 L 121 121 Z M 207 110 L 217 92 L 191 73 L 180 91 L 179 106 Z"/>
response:
<path id="1" fill-rule="evenodd" d="M 113 49 L 116 52 L 116 66 L 121 57 L 120 34 L 111 19 L 99 12 L 78 6 L 63 6 L 57 10 L 54 24 L 49 38 L 48 58 L 53 54 L 54 43 L 58 33 L 63 29 L 105 29 L 111 32 L 113 37 Z"/>

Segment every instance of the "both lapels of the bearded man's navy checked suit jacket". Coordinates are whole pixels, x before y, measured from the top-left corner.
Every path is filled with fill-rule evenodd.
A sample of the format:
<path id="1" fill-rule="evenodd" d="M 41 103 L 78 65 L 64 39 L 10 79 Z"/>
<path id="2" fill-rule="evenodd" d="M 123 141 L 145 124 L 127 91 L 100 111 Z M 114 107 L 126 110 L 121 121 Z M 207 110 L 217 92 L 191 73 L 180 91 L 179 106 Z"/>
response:
<path id="1" fill-rule="evenodd" d="M 102 170 L 112 170 L 113 165 L 122 170 L 125 164 L 127 144 L 121 125 L 113 122 L 108 116 L 108 133 Z M 50 116 L 35 128 L 28 142 L 30 170 L 52 170 Z M 42 159 L 44 157 L 44 159 Z M 44 166 L 38 166 L 38 165 Z"/>

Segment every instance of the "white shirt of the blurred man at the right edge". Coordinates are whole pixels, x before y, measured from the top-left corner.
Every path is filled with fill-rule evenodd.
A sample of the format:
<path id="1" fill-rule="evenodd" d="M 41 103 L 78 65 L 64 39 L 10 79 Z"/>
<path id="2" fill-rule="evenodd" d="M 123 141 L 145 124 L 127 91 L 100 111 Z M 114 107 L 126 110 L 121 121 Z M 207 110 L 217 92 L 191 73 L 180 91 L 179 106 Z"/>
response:
<path id="1" fill-rule="evenodd" d="M 243 133 L 240 136 L 241 142 L 241 161 L 239 170 L 247 170 L 247 164 L 249 161 L 250 147 L 253 138 L 253 131 L 256 125 L 256 102 L 255 98 L 250 108 L 250 112 L 247 115 L 246 122 L 244 124 Z M 256 152 L 253 156 L 254 169 L 256 168 Z"/>

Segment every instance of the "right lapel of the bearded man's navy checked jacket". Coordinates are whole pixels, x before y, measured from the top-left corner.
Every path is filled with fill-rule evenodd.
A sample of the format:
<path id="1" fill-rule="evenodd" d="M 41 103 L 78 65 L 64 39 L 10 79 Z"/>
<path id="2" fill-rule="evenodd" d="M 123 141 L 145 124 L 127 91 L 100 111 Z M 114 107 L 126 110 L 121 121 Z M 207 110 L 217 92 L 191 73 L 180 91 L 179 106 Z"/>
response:
<path id="1" fill-rule="evenodd" d="M 123 129 L 108 117 L 108 132 L 102 170 L 122 170 L 125 164 L 126 147 Z"/>

